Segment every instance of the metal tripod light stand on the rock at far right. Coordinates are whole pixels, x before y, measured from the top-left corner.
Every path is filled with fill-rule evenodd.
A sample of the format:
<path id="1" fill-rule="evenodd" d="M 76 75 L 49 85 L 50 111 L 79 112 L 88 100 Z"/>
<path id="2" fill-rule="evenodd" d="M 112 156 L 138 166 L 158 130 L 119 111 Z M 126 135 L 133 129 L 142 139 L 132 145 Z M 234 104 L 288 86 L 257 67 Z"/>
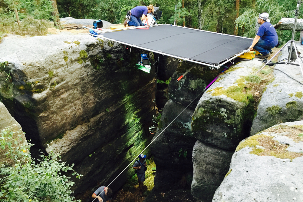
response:
<path id="1" fill-rule="evenodd" d="M 295 43 L 295 32 L 296 32 L 296 26 L 297 26 L 297 20 L 298 20 L 298 12 L 299 12 L 299 7 L 300 7 L 300 4 L 301 4 L 301 1 L 298 1 L 297 3 L 297 9 L 295 11 L 295 24 L 294 24 L 294 28 L 292 30 L 292 35 L 291 35 L 291 40 L 289 40 L 268 62 L 265 63 L 265 65 L 261 68 L 263 69 L 276 55 L 278 55 L 279 52 L 281 52 L 283 50 L 283 48 L 288 44 L 290 43 L 290 49 L 289 49 L 289 53 L 288 53 L 288 60 L 287 62 L 276 62 L 276 63 L 271 63 L 271 65 L 274 65 L 274 64 L 286 64 L 286 65 L 297 65 L 297 66 L 300 66 L 300 70 L 301 70 L 301 74 L 303 75 L 303 72 L 302 72 L 302 66 L 301 66 L 301 63 L 299 61 L 299 59 L 301 60 L 301 62 L 303 63 L 302 61 L 302 58 L 299 57 L 298 55 L 298 52 L 297 52 L 297 45 Z M 296 56 L 297 56 L 297 59 L 298 59 L 298 64 L 293 64 L 291 63 L 291 53 L 292 53 L 292 47 L 295 47 L 295 53 L 296 53 Z M 295 60 L 294 60 L 295 61 Z M 261 71 L 261 69 L 258 70 L 258 72 Z M 258 73 L 256 72 L 255 75 Z"/>

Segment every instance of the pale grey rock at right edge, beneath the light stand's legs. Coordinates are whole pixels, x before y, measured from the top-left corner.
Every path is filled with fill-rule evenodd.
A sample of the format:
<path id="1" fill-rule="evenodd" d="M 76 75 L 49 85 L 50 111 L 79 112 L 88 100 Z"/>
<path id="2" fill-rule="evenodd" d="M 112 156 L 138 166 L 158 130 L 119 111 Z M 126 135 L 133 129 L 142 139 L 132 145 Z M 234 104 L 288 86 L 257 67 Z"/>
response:
<path id="1" fill-rule="evenodd" d="M 296 45 L 300 47 L 298 42 Z M 287 48 L 278 57 L 279 60 L 285 58 L 288 58 Z M 298 61 L 296 63 L 298 64 Z M 278 123 L 302 120 L 302 84 L 283 73 L 302 82 L 300 67 L 278 64 L 274 68 L 275 79 L 267 85 L 262 95 L 250 135 Z"/>

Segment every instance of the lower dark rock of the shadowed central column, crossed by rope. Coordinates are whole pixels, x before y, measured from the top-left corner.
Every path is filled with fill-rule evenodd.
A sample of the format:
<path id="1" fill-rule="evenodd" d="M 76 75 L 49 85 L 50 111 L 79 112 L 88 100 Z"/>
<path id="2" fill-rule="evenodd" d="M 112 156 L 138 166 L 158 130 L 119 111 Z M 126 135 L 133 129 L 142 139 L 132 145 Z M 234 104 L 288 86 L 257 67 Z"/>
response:
<path id="1" fill-rule="evenodd" d="M 154 136 L 154 139 L 157 136 L 158 138 L 151 144 L 157 165 L 154 189 L 167 191 L 190 187 L 191 153 L 196 140 L 190 130 L 191 115 L 194 111 L 185 107 L 169 100 L 163 108 L 161 121 Z M 168 126 L 184 109 L 185 111 Z"/>

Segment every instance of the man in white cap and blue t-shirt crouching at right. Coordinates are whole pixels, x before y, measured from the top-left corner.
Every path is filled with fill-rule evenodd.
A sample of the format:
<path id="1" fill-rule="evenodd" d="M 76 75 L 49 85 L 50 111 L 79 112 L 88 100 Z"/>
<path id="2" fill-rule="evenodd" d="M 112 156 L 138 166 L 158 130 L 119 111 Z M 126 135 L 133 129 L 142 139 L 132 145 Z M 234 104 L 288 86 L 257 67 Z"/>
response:
<path id="1" fill-rule="evenodd" d="M 272 53 L 272 48 L 278 44 L 278 35 L 269 22 L 268 13 L 262 13 L 258 17 L 258 23 L 261 25 L 259 27 L 258 33 L 255 36 L 255 39 L 251 43 L 249 50 L 255 49 L 259 51 L 262 56 L 259 56 L 260 59 L 267 58 Z"/>

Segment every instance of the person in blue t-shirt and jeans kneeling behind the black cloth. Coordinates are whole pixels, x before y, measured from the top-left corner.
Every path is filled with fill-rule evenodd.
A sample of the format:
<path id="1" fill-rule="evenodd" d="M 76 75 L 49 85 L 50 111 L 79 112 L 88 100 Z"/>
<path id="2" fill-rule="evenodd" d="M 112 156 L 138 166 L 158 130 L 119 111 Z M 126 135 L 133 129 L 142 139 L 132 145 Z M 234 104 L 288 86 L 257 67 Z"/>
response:
<path id="1" fill-rule="evenodd" d="M 149 6 L 137 6 L 135 8 L 133 8 L 131 10 L 131 19 L 128 20 L 126 19 L 123 23 L 123 25 L 126 27 L 126 25 L 129 26 L 144 26 L 144 24 L 142 23 L 142 20 L 146 20 L 146 22 L 148 21 L 148 17 L 147 17 L 147 13 L 152 13 L 154 12 L 154 6 L 149 5 Z M 147 26 L 149 26 L 149 24 L 147 23 Z"/>

